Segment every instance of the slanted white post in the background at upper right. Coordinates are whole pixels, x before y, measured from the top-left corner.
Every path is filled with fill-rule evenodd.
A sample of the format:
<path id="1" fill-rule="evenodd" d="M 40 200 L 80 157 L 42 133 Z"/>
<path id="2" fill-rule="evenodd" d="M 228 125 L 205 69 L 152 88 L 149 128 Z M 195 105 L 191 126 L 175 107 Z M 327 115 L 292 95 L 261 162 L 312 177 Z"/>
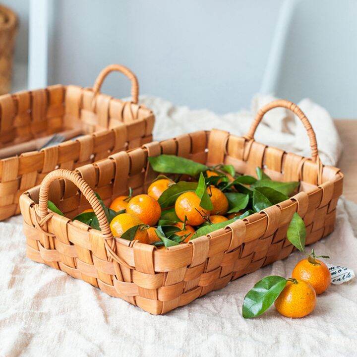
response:
<path id="1" fill-rule="evenodd" d="M 284 49 L 297 1 L 298 0 L 285 0 L 280 8 L 267 65 L 259 90 L 261 94 L 274 95 L 277 90 Z"/>

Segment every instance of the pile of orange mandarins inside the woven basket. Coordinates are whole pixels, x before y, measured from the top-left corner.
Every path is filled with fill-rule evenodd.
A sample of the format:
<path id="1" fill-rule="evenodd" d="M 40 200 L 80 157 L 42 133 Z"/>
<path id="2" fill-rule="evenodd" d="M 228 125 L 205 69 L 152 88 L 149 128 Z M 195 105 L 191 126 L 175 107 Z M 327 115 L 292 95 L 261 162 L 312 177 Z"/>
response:
<path id="1" fill-rule="evenodd" d="M 216 176 L 215 172 L 207 171 L 207 176 Z M 170 186 L 174 184 L 171 179 L 157 179 L 151 183 L 147 194 L 139 194 L 133 197 L 119 196 L 113 200 L 110 208 L 116 212 L 125 210 L 114 217 L 110 227 L 116 237 L 120 237 L 125 231 L 137 225 L 143 225 L 142 229 L 136 231 L 134 239 L 142 243 L 151 244 L 160 241 L 156 234 L 156 228 L 160 217 L 161 207 L 158 203 L 159 197 Z M 186 236 L 182 242 L 188 242 L 195 232 L 195 228 L 208 222 L 215 224 L 228 221 L 237 216 L 237 213 L 228 215 L 228 200 L 224 193 L 217 187 L 210 185 L 207 187 L 213 205 L 211 211 L 200 206 L 200 198 L 195 192 L 189 191 L 181 193 L 175 203 L 175 213 L 180 221 L 175 225 L 180 229 L 176 232 L 178 236 Z M 165 248 L 161 246 L 160 248 Z"/>

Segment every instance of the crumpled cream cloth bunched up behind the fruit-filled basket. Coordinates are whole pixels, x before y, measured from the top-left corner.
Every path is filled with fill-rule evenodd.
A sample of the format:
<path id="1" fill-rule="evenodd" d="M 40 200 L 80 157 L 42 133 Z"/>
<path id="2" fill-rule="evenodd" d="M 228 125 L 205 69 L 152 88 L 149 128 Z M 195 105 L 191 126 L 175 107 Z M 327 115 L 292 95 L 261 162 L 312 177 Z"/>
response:
<path id="1" fill-rule="evenodd" d="M 143 96 L 141 103 L 152 109 L 156 116 L 154 128 L 155 140 L 163 140 L 195 130 L 218 128 L 235 135 L 244 135 L 258 110 L 273 101 L 274 97 L 256 95 L 251 109 L 237 113 L 217 115 L 206 109 L 190 110 L 175 106 L 162 98 Z M 297 103 L 315 130 L 319 155 L 325 165 L 337 163 L 342 151 L 342 143 L 333 119 L 326 111 L 310 99 Z M 276 108 L 263 117 L 255 134 L 255 140 L 263 144 L 278 147 L 310 157 L 309 139 L 300 119 L 285 108 Z"/>

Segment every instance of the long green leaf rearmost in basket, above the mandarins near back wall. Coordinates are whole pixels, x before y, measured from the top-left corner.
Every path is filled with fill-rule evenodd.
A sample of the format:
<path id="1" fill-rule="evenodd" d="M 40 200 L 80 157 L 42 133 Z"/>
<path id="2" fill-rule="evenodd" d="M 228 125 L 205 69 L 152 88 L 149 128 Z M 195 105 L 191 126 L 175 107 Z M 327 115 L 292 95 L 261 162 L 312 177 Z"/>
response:
<path id="1" fill-rule="evenodd" d="M 152 156 L 148 160 L 153 170 L 160 173 L 186 174 L 195 177 L 208 170 L 206 165 L 176 155 Z"/>

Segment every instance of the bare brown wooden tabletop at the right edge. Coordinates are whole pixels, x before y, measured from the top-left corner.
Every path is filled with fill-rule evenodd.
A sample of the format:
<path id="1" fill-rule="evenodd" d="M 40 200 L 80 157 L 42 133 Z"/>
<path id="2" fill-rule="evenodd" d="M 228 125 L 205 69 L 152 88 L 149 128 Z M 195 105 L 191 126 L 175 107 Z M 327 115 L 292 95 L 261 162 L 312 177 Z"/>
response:
<path id="1" fill-rule="evenodd" d="M 344 196 L 357 203 L 357 120 L 335 120 L 344 150 L 337 167 L 344 174 Z"/>

